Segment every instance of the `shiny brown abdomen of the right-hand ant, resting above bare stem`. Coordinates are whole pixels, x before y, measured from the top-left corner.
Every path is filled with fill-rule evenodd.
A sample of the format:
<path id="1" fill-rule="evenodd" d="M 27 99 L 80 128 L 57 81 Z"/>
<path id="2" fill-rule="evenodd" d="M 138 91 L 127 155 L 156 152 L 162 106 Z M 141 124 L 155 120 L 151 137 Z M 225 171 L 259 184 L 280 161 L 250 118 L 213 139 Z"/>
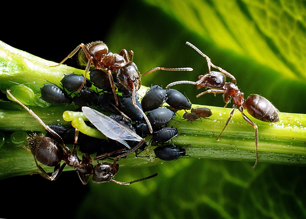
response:
<path id="1" fill-rule="evenodd" d="M 248 96 L 248 99 L 243 104 L 243 108 L 245 108 L 254 118 L 263 122 L 279 122 L 277 109 L 269 100 L 258 94 Z"/>

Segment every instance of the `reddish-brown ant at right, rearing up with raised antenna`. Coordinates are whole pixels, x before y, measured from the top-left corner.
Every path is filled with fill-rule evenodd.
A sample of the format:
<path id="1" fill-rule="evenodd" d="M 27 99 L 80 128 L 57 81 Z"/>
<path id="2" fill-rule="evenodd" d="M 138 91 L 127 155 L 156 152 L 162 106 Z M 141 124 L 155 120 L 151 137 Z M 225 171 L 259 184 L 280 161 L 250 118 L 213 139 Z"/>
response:
<path id="1" fill-rule="evenodd" d="M 232 118 L 232 116 L 234 114 L 234 110 L 236 108 L 238 108 L 238 110 L 242 114 L 243 119 L 246 122 L 248 122 L 251 126 L 253 126 L 254 129 L 255 129 L 256 161 L 255 161 L 254 166 L 252 167 L 254 169 L 256 167 L 257 163 L 258 163 L 258 149 L 257 149 L 257 146 L 258 146 L 258 127 L 251 119 L 249 119 L 243 113 L 243 109 L 246 109 L 248 111 L 248 113 L 250 115 L 252 115 L 254 118 L 259 119 L 263 122 L 270 122 L 270 123 L 271 122 L 279 122 L 278 110 L 273 106 L 273 104 L 269 100 L 267 100 L 266 98 L 264 98 L 262 96 L 259 96 L 257 94 L 250 95 L 250 96 L 248 96 L 248 98 L 246 100 L 244 100 L 244 93 L 242 93 L 238 89 L 238 87 L 236 86 L 235 77 L 233 77 L 230 73 L 223 70 L 222 68 L 213 65 L 210 61 L 210 58 L 207 55 L 203 54 L 197 47 L 195 47 L 194 45 L 192 45 L 189 42 L 186 42 L 186 44 L 189 45 L 190 47 L 192 47 L 193 49 L 195 49 L 198 53 L 200 53 L 203 57 L 206 58 L 209 70 L 210 70 L 210 66 L 212 66 L 213 68 L 216 68 L 216 69 L 220 70 L 220 72 L 222 74 L 224 74 L 225 76 L 232 78 L 233 82 L 229 83 L 229 82 L 225 82 L 225 81 L 220 81 L 218 79 L 220 77 L 216 77 L 216 75 L 218 76 L 217 73 L 220 73 L 220 72 L 210 71 L 210 73 L 205 75 L 205 76 L 203 76 L 203 75 L 199 76 L 198 81 L 196 81 L 196 82 L 193 82 L 193 81 L 177 81 L 177 82 L 173 82 L 173 83 L 167 85 L 167 87 L 170 87 L 170 86 L 173 86 L 173 85 L 176 85 L 176 84 L 184 84 L 184 83 L 185 84 L 195 84 L 195 85 L 197 85 L 197 89 L 199 89 L 201 87 L 208 87 L 210 89 L 208 89 L 208 90 L 206 90 L 202 93 L 199 93 L 198 95 L 196 95 L 196 97 L 202 96 L 203 94 L 206 94 L 206 93 L 223 93 L 223 99 L 224 99 L 224 102 L 226 103 L 226 105 L 224 107 L 226 107 L 227 104 L 230 102 L 230 100 L 233 98 L 233 109 L 230 111 L 230 117 L 227 119 L 224 128 L 222 129 L 221 133 L 218 135 L 217 141 L 219 141 L 219 138 L 220 138 L 221 134 L 223 133 L 227 124 L 230 122 L 230 119 Z M 213 77 L 211 77 L 212 73 L 213 73 Z M 215 86 L 215 85 L 217 85 L 217 86 Z M 218 89 L 213 89 L 213 88 L 218 88 Z"/>

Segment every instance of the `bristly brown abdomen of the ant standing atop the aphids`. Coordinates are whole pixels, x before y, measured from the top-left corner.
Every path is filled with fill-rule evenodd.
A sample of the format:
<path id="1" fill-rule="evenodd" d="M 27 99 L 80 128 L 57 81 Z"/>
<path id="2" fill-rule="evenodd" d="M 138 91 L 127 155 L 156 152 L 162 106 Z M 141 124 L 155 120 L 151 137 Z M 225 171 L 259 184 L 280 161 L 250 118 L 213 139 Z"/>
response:
<path id="1" fill-rule="evenodd" d="M 86 44 L 86 47 L 87 47 L 90 55 L 95 60 L 101 60 L 102 55 L 108 53 L 108 47 L 106 46 L 105 43 L 103 43 L 101 41 L 96 41 L 96 42 L 88 43 L 88 44 Z M 87 59 L 87 56 L 86 56 L 86 54 L 85 54 L 83 49 L 80 50 L 80 52 L 78 54 L 78 59 L 79 59 L 80 65 L 82 65 L 82 66 L 86 66 L 87 65 L 88 59 Z"/>

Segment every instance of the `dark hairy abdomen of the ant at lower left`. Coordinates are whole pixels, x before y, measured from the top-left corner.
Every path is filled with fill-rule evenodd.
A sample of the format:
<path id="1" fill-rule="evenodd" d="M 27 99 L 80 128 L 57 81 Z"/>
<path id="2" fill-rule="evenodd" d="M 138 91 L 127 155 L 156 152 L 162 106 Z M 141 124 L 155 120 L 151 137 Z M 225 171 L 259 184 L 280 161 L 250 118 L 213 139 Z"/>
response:
<path id="1" fill-rule="evenodd" d="M 43 134 L 32 134 L 28 136 L 30 151 L 35 159 L 46 166 L 55 167 L 61 163 L 63 149 L 52 138 Z"/>

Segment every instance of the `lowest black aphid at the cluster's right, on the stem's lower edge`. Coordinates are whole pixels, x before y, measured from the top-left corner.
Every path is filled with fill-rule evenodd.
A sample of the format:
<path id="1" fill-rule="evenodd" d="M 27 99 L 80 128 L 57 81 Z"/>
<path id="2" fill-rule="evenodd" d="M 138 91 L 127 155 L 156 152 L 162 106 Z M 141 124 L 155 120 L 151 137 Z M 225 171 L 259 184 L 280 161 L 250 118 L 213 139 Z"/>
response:
<path id="1" fill-rule="evenodd" d="M 154 149 L 155 156 L 161 160 L 176 160 L 181 156 L 186 155 L 184 148 L 175 147 L 173 145 L 159 146 Z"/>

